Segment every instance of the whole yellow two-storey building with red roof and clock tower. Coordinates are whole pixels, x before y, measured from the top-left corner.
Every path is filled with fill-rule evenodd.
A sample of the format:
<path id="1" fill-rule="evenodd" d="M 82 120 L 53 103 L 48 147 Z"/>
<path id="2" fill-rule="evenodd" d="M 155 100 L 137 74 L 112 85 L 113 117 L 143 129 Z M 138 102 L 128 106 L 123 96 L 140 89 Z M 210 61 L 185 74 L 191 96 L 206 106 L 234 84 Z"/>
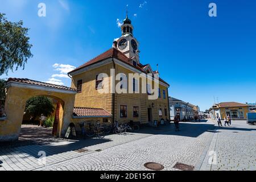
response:
<path id="1" fill-rule="evenodd" d="M 169 84 L 159 78 L 156 100 L 149 98 L 152 93 L 148 92 L 156 84 L 147 82 L 146 85 L 143 81 L 150 77 L 146 75 L 148 73 L 154 79 L 154 73 L 158 71 L 153 71 L 149 64 L 141 64 L 139 43 L 133 36 L 131 20 L 126 17 L 123 22 L 122 36 L 114 40 L 113 48 L 68 73 L 72 76 L 71 87 L 78 90 L 75 107 L 104 109 L 112 114 L 112 122 L 115 119 L 140 123 L 166 121 L 170 119 Z M 129 74 L 138 74 L 138 77 L 130 79 Z M 147 92 L 142 93 L 144 87 Z M 116 88 L 120 88 L 121 93 Z M 107 92 L 102 93 L 104 90 Z"/>

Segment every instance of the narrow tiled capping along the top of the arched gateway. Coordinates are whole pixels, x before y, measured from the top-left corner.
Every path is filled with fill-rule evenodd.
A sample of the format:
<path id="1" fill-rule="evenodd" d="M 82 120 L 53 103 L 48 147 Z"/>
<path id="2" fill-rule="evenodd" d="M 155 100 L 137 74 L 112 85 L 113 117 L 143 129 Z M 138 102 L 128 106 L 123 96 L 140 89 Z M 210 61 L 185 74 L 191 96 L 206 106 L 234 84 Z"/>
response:
<path id="1" fill-rule="evenodd" d="M 21 82 L 23 84 L 31 84 L 31 85 L 40 85 L 40 86 L 47 86 L 50 88 L 60 89 L 60 90 L 69 90 L 69 91 L 76 91 L 76 89 L 69 88 L 67 86 L 61 86 L 61 85 L 54 85 L 54 84 L 48 84 L 45 82 L 35 81 L 35 80 L 29 80 L 27 78 L 9 78 L 7 81 L 14 81 L 14 82 Z"/>

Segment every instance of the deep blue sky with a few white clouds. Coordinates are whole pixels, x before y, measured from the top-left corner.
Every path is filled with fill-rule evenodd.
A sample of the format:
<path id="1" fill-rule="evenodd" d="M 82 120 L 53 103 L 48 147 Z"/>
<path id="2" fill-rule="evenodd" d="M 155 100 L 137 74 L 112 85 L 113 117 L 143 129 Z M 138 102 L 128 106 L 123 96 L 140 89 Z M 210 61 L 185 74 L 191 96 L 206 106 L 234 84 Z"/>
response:
<path id="1" fill-rule="evenodd" d="M 46 4 L 46 17 L 38 4 Z M 217 5 L 209 17 L 208 5 Z M 0 0 L 0 12 L 30 28 L 34 57 L 24 71 L 8 76 L 57 81 L 112 47 L 121 36 L 117 19 L 126 5 L 139 40 L 141 63 L 159 64 L 169 94 L 209 109 L 219 102 L 256 101 L 256 1 L 158 0 Z M 54 67 L 53 67 L 54 65 Z"/>

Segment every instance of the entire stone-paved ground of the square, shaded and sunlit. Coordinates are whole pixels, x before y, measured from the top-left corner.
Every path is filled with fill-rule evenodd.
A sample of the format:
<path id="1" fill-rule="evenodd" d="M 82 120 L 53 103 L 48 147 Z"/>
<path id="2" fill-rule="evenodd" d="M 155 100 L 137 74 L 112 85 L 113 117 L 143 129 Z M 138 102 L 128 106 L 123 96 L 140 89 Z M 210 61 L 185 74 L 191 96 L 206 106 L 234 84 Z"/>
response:
<path id="1" fill-rule="evenodd" d="M 218 128 L 216 122 L 180 123 L 142 129 L 140 133 L 109 135 L 105 139 L 64 141 L 43 146 L 0 147 L 1 170 L 147 170 L 144 164 L 157 162 L 164 170 L 177 170 L 176 163 L 195 170 L 255 170 L 255 126 L 234 121 Z M 78 149 L 83 151 L 77 152 Z M 38 152 L 46 152 L 46 164 L 38 163 Z M 210 165 L 212 154 L 216 156 Z M 216 155 L 214 155 L 216 154 Z M 213 158 L 215 159 L 215 158 Z M 2 164 L 1 164 L 2 161 Z"/>

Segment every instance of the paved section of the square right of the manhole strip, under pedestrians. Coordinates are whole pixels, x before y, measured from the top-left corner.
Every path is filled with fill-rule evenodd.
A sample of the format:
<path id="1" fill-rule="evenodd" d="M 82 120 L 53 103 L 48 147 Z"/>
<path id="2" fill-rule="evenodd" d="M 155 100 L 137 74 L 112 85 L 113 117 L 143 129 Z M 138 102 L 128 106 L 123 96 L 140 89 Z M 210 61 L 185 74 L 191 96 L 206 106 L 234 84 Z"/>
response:
<path id="1" fill-rule="evenodd" d="M 232 121 L 232 126 L 216 129 L 201 170 L 255 171 L 256 126 Z"/>

